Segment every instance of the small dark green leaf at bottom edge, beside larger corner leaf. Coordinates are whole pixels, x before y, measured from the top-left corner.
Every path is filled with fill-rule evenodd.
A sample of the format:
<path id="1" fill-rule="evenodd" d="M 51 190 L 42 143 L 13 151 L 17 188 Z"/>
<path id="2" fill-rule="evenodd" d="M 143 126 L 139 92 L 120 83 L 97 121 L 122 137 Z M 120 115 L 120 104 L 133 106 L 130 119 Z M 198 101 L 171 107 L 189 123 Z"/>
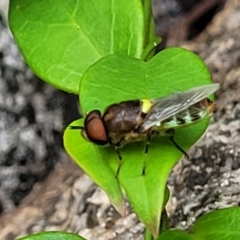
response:
<path id="1" fill-rule="evenodd" d="M 217 239 L 217 238 L 209 238 L 210 239 Z M 197 240 L 193 235 L 188 234 L 186 231 L 183 230 L 169 230 L 160 234 L 157 240 Z"/>

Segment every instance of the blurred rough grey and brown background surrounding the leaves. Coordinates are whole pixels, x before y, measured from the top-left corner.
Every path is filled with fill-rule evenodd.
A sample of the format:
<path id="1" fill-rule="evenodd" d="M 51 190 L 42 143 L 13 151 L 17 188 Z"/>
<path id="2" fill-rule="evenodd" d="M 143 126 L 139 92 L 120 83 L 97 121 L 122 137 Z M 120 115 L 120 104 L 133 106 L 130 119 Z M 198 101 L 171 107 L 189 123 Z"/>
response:
<path id="1" fill-rule="evenodd" d="M 84 229 L 94 239 L 96 229 L 99 237 L 123 223 L 63 149 L 64 128 L 80 116 L 78 97 L 45 84 L 27 67 L 8 29 L 7 8 L 0 0 L 0 240 L 43 229 Z M 240 204 L 240 3 L 153 0 L 153 13 L 163 39 L 158 50 L 196 52 L 221 84 L 212 125 L 169 179 L 171 224 L 187 228 L 210 209 Z M 142 233 L 136 216 L 129 219 L 126 232 Z M 26 226 L 17 230 L 22 221 Z"/>

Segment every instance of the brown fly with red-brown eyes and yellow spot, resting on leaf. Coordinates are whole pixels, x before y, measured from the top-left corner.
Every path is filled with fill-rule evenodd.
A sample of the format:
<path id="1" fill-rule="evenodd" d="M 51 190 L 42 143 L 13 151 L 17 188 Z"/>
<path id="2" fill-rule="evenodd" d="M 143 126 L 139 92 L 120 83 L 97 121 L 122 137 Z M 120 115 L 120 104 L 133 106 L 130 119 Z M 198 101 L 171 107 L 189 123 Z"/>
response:
<path id="1" fill-rule="evenodd" d="M 216 104 L 207 97 L 219 88 L 209 84 L 188 91 L 173 93 L 157 99 L 128 100 L 108 106 L 103 115 L 99 110 L 87 113 L 82 136 L 97 145 L 115 147 L 119 160 L 119 148 L 132 141 L 146 139 L 145 153 L 148 152 L 153 134 L 170 135 L 171 142 L 185 155 L 187 153 L 175 142 L 175 129 L 189 126 L 210 117 Z M 121 161 L 116 173 L 120 170 Z M 145 166 L 143 169 L 143 175 Z"/>

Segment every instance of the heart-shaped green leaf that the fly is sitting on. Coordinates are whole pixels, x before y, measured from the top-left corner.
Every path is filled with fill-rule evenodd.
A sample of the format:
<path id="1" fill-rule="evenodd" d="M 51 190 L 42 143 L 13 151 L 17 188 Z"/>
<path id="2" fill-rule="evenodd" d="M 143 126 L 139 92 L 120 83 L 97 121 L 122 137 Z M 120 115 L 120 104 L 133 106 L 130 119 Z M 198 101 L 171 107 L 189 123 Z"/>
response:
<path id="1" fill-rule="evenodd" d="M 80 85 L 81 107 L 84 113 L 93 109 L 104 111 L 105 107 L 112 103 L 130 99 L 157 98 L 210 82 L 209 72 L 199 57 L 181 48 L 164 50 L 149 62 L 124 55 L 109 55 L 85 72 Z M 208 120 L 203 120 L 198 124 L 179 129 L 176 131 L 175 140 L 187 150 L 201 137 L 207 126 Z M 70 135 L 73 135 L 73 132 L 72 130 L 69 133 L 67 140 L 70 142 L 65 145 L 78 144 L 77 155 L 69 152 L 69 149 L 67 151 L 71 156 L 74 155 L 75 161 L 81 165 L 82 155 L 85 154 L 85 147 L 82 147 L 84 140 L 80 136 L 78 139 L 71 139 Z M 84 170 L 91 176 L 92 165 L 97 165 L 100 169 L 109 165 L 112 171 L 107 171 L 105 175 L 112 174 L 114 177 L 119 165 L 114 149 L 93 144 L 90 147 L 90 145 L 91 143 L 88 151 L 101 159 L 89 158 Z M 153 137 L 147 155 L 144 154 L 144 150 L 145 142 L 130 143 L 120 149 L 123 160 L 118 179 L 140 220 L 154 236 L 157 236 L 164 207 L 166 181 L 172 167 L 182 157 L 182 153 L 173 146 L 167 136 Z M 142 176 L 144 162 L 146 162 L 146 174 Z M 93 171 L 95 175 L 100 172 Z M 101 186 L 112 184 L 106 183 L 105 179 L 102 181 L 96 183 Z"/>

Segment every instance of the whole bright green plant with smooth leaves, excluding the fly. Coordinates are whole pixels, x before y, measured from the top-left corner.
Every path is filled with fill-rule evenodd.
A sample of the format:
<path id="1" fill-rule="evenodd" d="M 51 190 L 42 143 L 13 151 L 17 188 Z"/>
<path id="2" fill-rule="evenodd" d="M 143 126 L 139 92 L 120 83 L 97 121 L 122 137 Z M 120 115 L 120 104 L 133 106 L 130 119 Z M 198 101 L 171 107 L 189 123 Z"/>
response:
<path id="1" fill-rule="evenodd" d="M 84 114 L 93 109 L 103 112 L 106 106 L 123 100 L 156 98 L 211 83 L 207 67 L 190 51 L 169 48 L 154 56 L 159 38 L 154 32 L 150 0 L 111 4 L 100 0 L 12 0 L 9 21 L 29 66 L 53 86 L 79 94 Z M 184 150 L 189 149 L 204 133 L 208 122 L 205 119 L 177 130 L 175 140 Z M 83 120 L 70 125 L 82 126 Z M 119 159 L 114 149 L 87 142 L 79 131 L 69 127 L 64 133 L 64 146 L 122 214 L 124 189 L 148 229 L 146 239 L 159 235 L 161 213 L 168 200 L 166 181 L 182 157 L 168 137 L 154 137 L 147 155 L 144 142 L 122 148 L 122 167 L 117 178 Z M 230 217 L 233 211 L 236 219 L 240 216 L 237 208 L 224 211 Z M 219 212 L 222 215 L 221 211 L 213 214 Z M 210 217 L 200 219 L 200 223 L 211 221 L 212 215 L 206 216 Z M 221 218 L 221 223 L 228 222 Z M 199 225 L 197 222 L 192 228 L 194 234 L 200 232 L 198 235 L 168 230 L 158 239 L 206 239 L 201 234 L 205 229 Z M 236 229 L 236 225 L 232 226 Z M 160 229 L 163 231 L 161 226 Z M 24 239 L 49 239 L 48 233 L 43 234 Z M 51 239 L 54 234 L 61 233 L 51 233 Z M 74 239 L 71 235 L 62 238 Z"/>

